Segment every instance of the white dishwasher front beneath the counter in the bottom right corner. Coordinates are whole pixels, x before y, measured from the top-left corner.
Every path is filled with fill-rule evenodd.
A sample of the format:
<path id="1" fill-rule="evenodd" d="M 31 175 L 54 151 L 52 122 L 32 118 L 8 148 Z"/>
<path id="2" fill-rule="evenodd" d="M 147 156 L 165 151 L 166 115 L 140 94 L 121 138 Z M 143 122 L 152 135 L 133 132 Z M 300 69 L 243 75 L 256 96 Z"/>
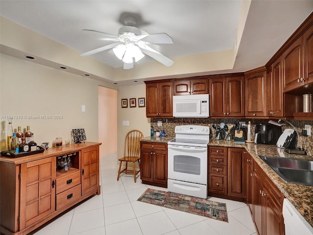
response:
<path id="1" fill-rule="evenodd" d="M 283 216 L 285 235 L 313 235 L 313 227 L 287 198 L 284 199 L 283 203 Z"/>

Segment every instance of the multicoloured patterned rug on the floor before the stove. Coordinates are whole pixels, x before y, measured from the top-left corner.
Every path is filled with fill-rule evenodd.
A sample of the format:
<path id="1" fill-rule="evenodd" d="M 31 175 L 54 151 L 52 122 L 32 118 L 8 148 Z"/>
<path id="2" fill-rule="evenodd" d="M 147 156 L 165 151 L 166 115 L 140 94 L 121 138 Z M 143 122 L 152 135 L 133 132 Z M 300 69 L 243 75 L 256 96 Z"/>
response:
<path id="1" fill-rule="evenodd" d="M 148 188 L 137 201 L 228 222 L 226 203 L 151 188 Z"/>

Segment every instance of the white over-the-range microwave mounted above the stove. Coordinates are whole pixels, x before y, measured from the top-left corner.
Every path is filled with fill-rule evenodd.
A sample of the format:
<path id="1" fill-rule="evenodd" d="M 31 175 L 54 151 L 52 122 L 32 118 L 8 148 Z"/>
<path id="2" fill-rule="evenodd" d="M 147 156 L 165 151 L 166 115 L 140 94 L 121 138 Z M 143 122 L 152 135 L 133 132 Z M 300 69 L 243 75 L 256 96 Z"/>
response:
<path id="1" fill-rule="evenodd" d="M 208 118 L 209 107 L 209 94 L 173 96 L 173 116 L 175 118 Z"/>

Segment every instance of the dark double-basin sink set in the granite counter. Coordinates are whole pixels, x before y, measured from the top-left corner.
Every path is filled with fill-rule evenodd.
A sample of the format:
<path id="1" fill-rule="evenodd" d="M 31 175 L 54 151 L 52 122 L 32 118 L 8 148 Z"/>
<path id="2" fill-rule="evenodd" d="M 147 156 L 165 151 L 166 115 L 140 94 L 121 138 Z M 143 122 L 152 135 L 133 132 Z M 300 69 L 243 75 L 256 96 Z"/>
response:
<path id="1" fill-rule="evenodd" d="M 260 156 L 282 180 L 313 186 L 313 161 L 306 159 Z"/>

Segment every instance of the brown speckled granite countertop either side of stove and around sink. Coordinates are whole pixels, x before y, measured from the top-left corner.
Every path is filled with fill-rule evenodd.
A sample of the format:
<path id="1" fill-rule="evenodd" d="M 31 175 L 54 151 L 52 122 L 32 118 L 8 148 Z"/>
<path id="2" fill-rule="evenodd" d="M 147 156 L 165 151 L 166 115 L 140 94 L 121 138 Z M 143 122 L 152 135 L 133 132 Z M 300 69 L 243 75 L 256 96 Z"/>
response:
<path id="1" fill-rule="evenodd" d="M 141 141 L 163 142 L 174 139 L 174 137 L 145 137 Z M 259 155 L 286 157 L 286 158 L 302 158 L 312 159 L 313 156 L 288 154 L 284 150 L 279 149 L 276 145 L 255 144 L 255 143 L 235 143 L 234 141 L 210 140 L 209 146 L 220 147 L 238 147 L 245 148 L 253 157 L 255 162 L 260 165 L 264 172 L 268 175 L 271 181 L 284 194 L 284 196 L 294 205 L 300 214 L 313 227 L 313 187 L 305 185 L 297 185 L 283 181 L 268 164 L 266 164 Z"/>

